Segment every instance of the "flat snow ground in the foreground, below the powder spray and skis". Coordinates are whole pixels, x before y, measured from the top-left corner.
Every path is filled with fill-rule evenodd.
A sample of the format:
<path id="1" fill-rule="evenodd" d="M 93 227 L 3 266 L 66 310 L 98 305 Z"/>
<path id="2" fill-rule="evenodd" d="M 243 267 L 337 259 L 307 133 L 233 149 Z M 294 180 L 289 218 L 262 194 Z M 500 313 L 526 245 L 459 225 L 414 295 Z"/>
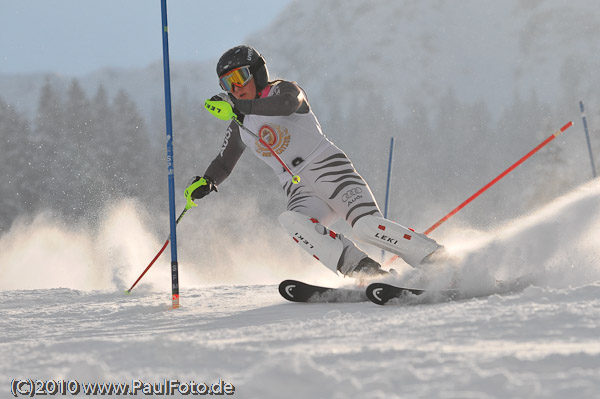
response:
<path id="1" fill-rule="evenodd" d="M 222 378 L 242 398 L 591 398 L 598 390 L 598 284 L 386 308 L 289 304 L 275 292 L 194 289 L 178 311 L 150 292 L 4 292 L 3 331 L 12 333 L 2 343 L 3 380 Z"/>

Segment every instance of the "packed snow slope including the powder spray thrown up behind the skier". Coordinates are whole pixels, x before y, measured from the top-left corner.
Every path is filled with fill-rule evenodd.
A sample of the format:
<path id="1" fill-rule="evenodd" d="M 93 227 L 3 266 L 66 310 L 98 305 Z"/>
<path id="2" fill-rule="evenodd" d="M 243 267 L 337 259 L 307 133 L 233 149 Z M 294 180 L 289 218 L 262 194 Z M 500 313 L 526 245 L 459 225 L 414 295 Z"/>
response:
<path id="1" fill-rule="evenodd" d="M 179 310 L 169 309 L 165 259 L 124 296 L 161 244 L 135 215 L 121 203 L 93 234 L 38 218 L 1 238 L 5 392 L 14 378 L 130 385 L 222 379 L 240 398 L 600 392 L 600 181 L 497 231 L 454 230 L 447 222 L 445 243 L 460 259 L 453 272 L 472 298 L 421 305 L 285 302 L 276 287 L 284 276 L 348 281 L 294 252 L 283 231 L 260 254 L 232 248 L 239 256 L 224 256 L 224 264 L 190 259 L 184 245 Z M 396 266 L 400 281 L 415 277 Z M 536 275 L 532 286 L 493 293 L 491 275 L 526 273 Z M 441 266 L 430 284 L 447 274 Z"/>

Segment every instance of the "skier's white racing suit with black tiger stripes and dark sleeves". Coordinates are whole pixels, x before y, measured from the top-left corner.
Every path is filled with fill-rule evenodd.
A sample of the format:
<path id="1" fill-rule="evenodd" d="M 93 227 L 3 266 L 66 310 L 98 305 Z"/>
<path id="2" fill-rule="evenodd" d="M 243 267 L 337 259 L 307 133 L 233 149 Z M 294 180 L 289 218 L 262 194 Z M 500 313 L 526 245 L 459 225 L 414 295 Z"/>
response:
<path id="1" fill-rule="evenodd" d="M 244 126 L 259 135 L 280 156 L 298 184 L 252 134 L 232 123 L 222 150 L 205 176 L 220 184 L 233 169 L 245 148 L 266 162 L 278 175 L 288 197 L 287 211 L 279 217 L 294 241 L 334 272 L 352 274 L 367 257 L 351 240 L 328 226 L 339 218 L 352 226 L 356 239 L 418 265 L 439 246 L 382 217 L 373 194 L 346 154 L 329 141 L 313 114 L 306 95 L 295 83 L 277 81 L 247 101 Z"/>

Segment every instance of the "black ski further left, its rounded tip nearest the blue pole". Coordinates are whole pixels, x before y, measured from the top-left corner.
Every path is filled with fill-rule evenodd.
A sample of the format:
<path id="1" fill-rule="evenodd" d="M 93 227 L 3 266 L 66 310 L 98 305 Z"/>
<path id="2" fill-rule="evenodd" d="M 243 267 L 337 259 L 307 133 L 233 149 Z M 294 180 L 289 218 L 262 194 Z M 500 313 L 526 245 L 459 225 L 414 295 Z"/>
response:
<path id="1" fill-rule="evenodd" d="M 279 284 L 279 293 L 292 302 L 365 302 L 364 289 L 331 288 L 306 284 L 298 280 L 285 280 Z"/>

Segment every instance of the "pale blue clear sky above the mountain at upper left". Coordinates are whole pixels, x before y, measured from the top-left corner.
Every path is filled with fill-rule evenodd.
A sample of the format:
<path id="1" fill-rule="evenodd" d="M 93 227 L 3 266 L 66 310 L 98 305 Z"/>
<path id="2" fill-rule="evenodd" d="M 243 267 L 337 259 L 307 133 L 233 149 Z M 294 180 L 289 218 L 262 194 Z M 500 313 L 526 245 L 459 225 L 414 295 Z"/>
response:
<path id="1" fill-rule="evenodd" d="M 291 0 L 169 0 L 171 62 L 216 60 Z M 160 0 L 0 0 L 0 74 L 82 76 L 162 60 Z"/>

